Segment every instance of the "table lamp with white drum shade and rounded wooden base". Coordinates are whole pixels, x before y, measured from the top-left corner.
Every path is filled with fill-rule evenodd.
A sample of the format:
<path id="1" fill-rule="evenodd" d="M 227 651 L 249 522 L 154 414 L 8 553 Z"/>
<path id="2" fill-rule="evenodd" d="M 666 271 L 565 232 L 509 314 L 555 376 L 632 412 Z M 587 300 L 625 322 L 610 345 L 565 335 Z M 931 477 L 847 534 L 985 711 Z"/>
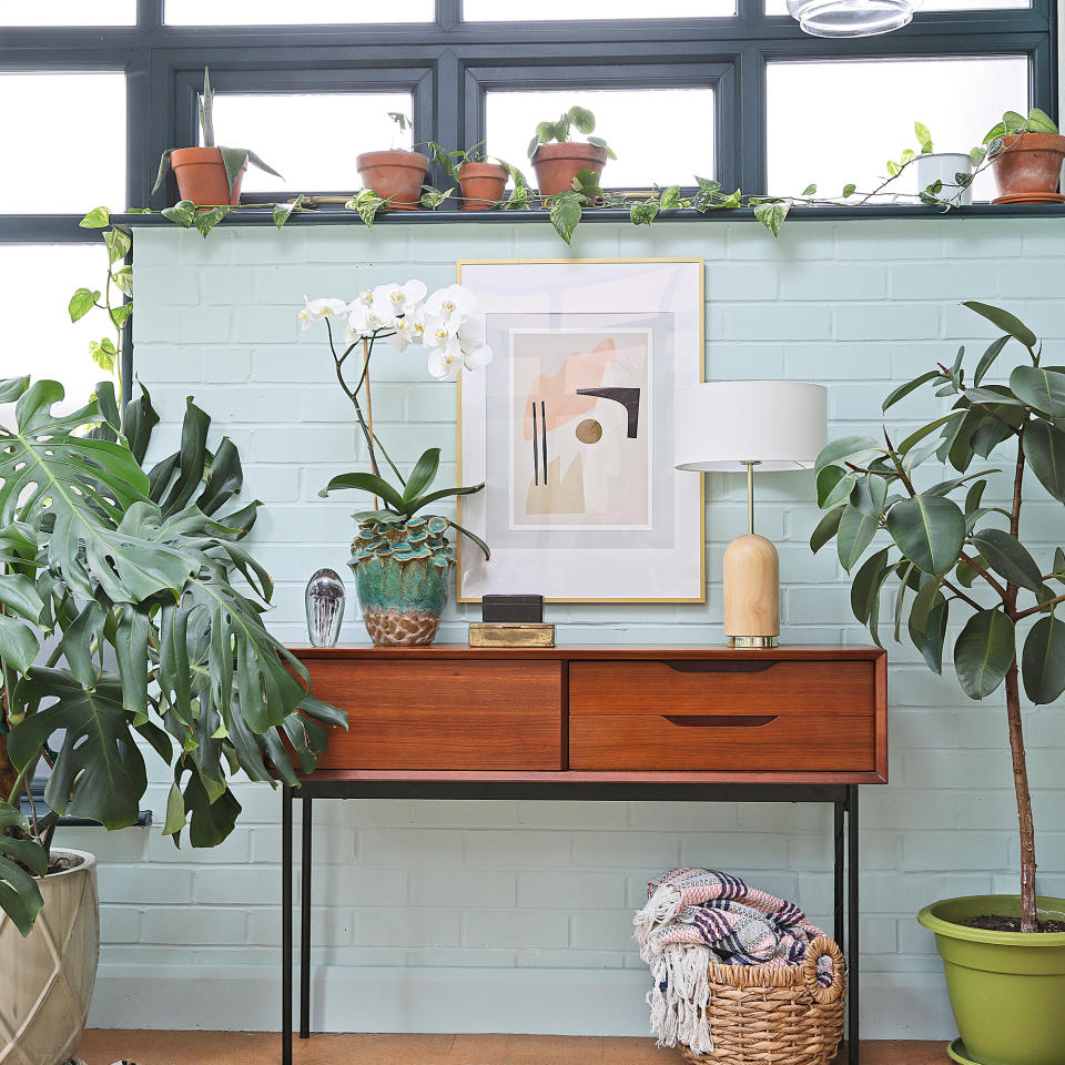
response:
<path id="1" fill-rule="evenodd" d="M 754 532 L 754 468 L 811 469 L 828 440 L 828 393 L 795 381 L 687 385 L 673 404 L 678 469 L 747 469 L 747 535 L 724 552 L 724 635 L 729 647 L 777 647 L 777 548 Z"/>

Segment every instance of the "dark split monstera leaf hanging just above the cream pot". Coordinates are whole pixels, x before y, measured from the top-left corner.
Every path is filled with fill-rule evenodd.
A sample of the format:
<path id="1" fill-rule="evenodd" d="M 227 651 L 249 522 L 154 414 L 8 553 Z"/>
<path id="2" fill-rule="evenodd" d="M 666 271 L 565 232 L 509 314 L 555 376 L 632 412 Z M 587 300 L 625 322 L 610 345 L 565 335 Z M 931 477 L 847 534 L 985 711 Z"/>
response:
<path id="1" fill-rule="evenodd" d="M 148 777 L 119 678 L 98 673 L 87 687 L 69 670 L 39 666 L 19 682 L 19 697 L 55 700 L 27 714 L 8 736 L 8 752 L 20 770 L 62 736 L 44 791 L 49 807 L 109 829 L 135 824 Z"/>

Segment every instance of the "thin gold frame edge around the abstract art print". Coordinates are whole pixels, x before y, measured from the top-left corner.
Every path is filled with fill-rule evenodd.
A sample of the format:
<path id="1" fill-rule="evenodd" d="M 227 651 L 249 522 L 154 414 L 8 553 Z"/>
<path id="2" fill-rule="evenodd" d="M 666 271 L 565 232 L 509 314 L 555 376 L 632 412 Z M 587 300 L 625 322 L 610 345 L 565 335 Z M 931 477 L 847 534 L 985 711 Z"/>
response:
<path id="1" fill-rule="evenodd" d="M 663 265 L 663 264 L 673 264 L 673 265 L 698 265 L 698 312 L 696 314 L 696 347 L 697 347 L 697 366 L 696 375 L 693 381 L 703 382 L 706 379 L 706 261 L 700 257 L 688 257 L 688 256 L 659 256 L 659 257 L 647 257 L 647 258 L 628 258 L 628 257 L 618 257 L 618 258 L 528 258 L 528 260 L 517 260 L 517 258 L 468 258 L 468 260 L 458 260 L 456 262 L 456 280 L 459 284 L 463 283 L 463 271 L 464 267 L 471 266 L 569 266 L 569 265 Z M 462 374 L 459 374 L 458 385 L 456 389 L 456 457 L 457 457 L 457 467 L 458 467 L 458 484 L 463 483 L 463 381 Z M 692 476 L 691 474 L 684 474 L 684 476 Z M 459 496 L 457 499 L 458 507 L 458 523 L 463 524 L 463 497 Z M 471 550 L 475 548 L 469 548 L 463 544 L 464 537 L 457 536 L 457 567 L 456 567 L 456 601 L 457 602 L 480 602 L 481 596 L 470 596 L 465 595 L 463 591 L 463 551 L 464 549 Z M 489 545 L 490 547 L 491 545 Z M 698 594 L 694 596 L 545 596 L 545 602 L 558 602 L 558 604 L 702 604 L 707 601 L 707 560 L 706 560 L 706 485 L 704 478 L 698 476 L 698 535 L 697 535 L 697 548 L 698 548 Z M 511 589 L 513 590 L 513 589 Z M 523 589 L 528 590 L 528 589 Z M 532 589 L 535 590 L 535 589 Z"/>

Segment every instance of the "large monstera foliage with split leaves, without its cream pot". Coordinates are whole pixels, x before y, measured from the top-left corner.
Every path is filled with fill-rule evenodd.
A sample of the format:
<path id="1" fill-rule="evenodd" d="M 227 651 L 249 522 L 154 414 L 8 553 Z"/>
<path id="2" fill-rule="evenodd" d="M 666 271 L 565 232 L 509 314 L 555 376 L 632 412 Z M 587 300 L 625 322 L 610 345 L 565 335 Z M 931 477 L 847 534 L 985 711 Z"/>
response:
<path id="1" fill-rule="evenodd" d="M 260 504 L 236 501 L 232 440 L 209 449 L 190 398 L 179 450 L 145 470 L 146 390 L 122 418 L 110 382 L 72 413 L 63 398 L 0 382 L 0 907 L 23 935 L 60 816 L 136 822 L 142 748 L 173 767 L 163 832 L 213 846 L 241 811 L 230 773 L 296 784 L 293 758 L 310 771 L 322 724 L 346 726 L 263 625 L 273 585 L 241 544 Z"/>

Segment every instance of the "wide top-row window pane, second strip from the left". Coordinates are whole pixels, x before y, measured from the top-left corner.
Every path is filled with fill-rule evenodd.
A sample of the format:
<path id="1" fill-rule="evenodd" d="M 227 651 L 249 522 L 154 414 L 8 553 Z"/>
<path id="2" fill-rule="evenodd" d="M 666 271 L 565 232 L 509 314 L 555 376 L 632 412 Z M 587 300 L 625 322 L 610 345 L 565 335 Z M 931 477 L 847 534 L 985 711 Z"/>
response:
<path id="1" fill-rule="evenodd" d="M 432 22 L 434 0 L 166 0 L 169 26 L 326 26 L 329 23 Z"/>

